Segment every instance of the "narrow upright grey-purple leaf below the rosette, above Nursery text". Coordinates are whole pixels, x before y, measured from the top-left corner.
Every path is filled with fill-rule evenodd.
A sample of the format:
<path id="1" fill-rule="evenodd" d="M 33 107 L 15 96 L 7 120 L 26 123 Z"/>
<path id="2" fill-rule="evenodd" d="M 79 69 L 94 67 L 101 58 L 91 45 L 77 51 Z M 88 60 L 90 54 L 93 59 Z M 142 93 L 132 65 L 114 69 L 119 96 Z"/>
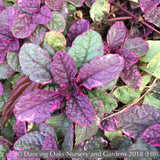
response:
<path id="1" fill-rule="evenodd" d="M 70 122 L 62 144 L 62 150 L 71 151 L 73 147 L 74 129 L 73 123 Z"/>

